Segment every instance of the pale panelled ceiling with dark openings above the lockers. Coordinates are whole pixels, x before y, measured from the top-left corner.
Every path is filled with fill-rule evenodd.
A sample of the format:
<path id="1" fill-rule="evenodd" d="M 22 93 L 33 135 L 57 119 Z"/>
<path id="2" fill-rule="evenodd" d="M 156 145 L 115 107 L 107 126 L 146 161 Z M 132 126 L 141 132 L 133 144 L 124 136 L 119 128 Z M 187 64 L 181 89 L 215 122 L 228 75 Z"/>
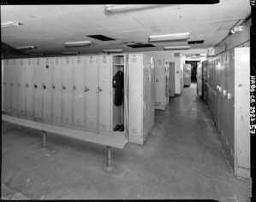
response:
<path id="1" fill-rule="evenodd" d="M 125 52 L 158 51 L 164 46 L 188 45 L 186 41 L 152 43 L 155 47 L 133 49 L 128 44 L 148 43 L 150 35 L 190 32 L 191 49 L 213 47 L 229 30 L 250 14 L 249 2 L 225 0 L 211 5 L 160 5 L 119 14 L 107 14 L 105 5 L 3 5 L 1 22 L 22 25 L 1 29 L 2 42 L 12 47 L 33 45 L 27 54 L 60 55 L 63 51 L 98 53 L 103 49 Z M 114 41 L 86 37 L 102 34 Z M 92 41 L 90 47 L 65 48 L 65 42 Z"/>

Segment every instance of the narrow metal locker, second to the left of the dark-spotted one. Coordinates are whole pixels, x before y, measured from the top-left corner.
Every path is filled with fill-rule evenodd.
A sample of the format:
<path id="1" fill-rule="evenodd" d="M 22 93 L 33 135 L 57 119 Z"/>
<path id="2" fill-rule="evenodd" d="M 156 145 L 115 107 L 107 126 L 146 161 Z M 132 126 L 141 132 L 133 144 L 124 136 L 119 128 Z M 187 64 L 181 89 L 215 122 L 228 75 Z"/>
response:
<path id="1" fill-rule="evenodd" d="M 25 62 L 25 114 L 33 117 L 33 59 L 24 59 Z"/>

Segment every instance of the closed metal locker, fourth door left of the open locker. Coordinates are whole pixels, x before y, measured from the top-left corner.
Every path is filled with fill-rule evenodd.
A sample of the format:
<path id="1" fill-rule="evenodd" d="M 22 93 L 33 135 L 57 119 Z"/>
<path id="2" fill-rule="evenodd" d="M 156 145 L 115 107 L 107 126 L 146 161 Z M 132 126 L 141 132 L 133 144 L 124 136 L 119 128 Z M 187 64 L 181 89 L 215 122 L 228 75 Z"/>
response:
<path id="1" fill-rule="evenodd" d="M 63 124 L 72 124 L 73 65 L 73 57 L 63 58 Z"/>

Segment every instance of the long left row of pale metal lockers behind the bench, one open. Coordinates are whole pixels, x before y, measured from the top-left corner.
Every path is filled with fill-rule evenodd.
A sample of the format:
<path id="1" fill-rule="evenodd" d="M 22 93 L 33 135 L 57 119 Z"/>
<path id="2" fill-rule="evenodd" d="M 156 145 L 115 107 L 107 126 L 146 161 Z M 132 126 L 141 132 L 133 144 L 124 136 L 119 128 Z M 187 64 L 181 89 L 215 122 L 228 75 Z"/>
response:
<path id="1" fill-rule="evenodd" d="M 143 116 L 154 119 L 154 113 L 143 112 L 143 106 L 154 105 L 154 101 L 144 101 L 143 81 L 153 70 L 152 58 L 140 54 L 4 60 L 3 112 L 100 135 L 127 138 L 128 134 L 143 140 Z M 123 74 L 120 106 L 115 105 L 112 84 L 117 72 Z M 148 90 L 154 93 L 154 89 Z M 116 124 L 124 125 L 124 130 L 114 132 Z"/>

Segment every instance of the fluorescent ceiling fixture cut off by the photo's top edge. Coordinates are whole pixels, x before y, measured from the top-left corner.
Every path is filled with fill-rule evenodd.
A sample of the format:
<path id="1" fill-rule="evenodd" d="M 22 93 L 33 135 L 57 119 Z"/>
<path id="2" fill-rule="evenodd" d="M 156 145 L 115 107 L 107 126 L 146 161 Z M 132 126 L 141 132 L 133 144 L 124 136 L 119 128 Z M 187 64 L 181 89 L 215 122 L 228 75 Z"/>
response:
<path id="1" fill-rule="evenodd" d="M 116 5 L 106 5 L 106 11 L 109 13 L 117 13 L 122 11 L 128 11 L 133 9 L 147 9 L 152 6 L 158 6 L 160 4 L 116 4 Z"/>

